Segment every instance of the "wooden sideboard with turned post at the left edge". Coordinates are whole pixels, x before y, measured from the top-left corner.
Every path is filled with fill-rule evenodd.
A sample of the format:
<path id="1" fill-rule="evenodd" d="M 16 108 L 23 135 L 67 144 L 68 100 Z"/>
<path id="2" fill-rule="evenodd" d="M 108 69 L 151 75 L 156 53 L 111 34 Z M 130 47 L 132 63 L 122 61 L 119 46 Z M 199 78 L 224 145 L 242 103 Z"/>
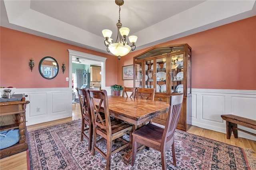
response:
<path id="1" fill-rule="evenodd" d="M 19 129 L 19 142 L 0 150 L 0 158 L 5 158 L 7 156 L 25 151 L 28 149 L 28 136 L 26 129 L 26 104 L 30 103 L 26 101 L 24 95 L 16 94 L 12 95 L 10 100 L 6 101 L 1 98 L 0 102 L 0 131 Z"/>

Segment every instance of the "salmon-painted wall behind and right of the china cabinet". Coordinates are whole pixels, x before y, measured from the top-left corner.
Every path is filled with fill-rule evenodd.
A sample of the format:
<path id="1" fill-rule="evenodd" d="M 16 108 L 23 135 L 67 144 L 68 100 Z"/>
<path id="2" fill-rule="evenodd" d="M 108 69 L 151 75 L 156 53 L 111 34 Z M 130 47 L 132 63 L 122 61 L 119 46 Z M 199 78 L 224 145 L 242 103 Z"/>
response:
<path id="1" fill-rule="evenodd" d="M 181 43 L 192 47 L 192 88 L 256 90 L 256 16 L 159 45 Z M 122 80 L 122 65 L 145 50 L 118 61 L 118 84 L 133 87 Z"/>

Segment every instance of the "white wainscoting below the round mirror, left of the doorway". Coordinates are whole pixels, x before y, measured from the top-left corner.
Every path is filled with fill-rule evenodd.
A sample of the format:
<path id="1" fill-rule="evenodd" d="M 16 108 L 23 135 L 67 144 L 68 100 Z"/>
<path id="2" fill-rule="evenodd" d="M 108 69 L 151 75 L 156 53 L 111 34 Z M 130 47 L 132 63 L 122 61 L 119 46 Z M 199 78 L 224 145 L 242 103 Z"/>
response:
<path id="1" fill-rule="evenodd" d="M 16 89 L 15 94 L 28 95 L 26 125 L 72 117 L 72 91 L 67 88 Z"/>

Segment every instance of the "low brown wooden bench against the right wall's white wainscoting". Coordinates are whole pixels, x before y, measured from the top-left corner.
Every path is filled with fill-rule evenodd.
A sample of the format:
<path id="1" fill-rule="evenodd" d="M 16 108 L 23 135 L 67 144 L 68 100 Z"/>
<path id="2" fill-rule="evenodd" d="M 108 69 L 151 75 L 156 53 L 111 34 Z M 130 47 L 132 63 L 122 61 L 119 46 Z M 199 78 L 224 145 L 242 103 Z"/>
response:
<path id="1" fill-rule="evenodd" d="M 234 137 L 237 138 L 237 130 L 256 136 L 256 134 L 237 128 L 237 125 L 252 128 L 256 130 L 256 121 L 247 119 L 236 115 L 221 115 L 222 119 L 226 121 L 227 138 L 230 139 L 231 133 L 233 132 Z"/>

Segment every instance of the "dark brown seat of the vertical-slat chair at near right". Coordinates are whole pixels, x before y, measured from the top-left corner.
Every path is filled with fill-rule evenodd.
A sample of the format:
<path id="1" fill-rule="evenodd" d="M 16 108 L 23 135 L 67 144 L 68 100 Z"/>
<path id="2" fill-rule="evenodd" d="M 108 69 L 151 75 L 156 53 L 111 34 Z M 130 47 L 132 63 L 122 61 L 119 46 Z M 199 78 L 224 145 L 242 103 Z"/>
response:
<path id="1" fill-rule="evenodd" d="M 135 130 L 132 132 L 132 135 L 137 138 L 144 138 L 147 141 L 150 141 L 153 144 L 161 146 L 162 136 L 164 133 L 164 128 L 160 128 L 156 125 L 152 125 L 151 123 L 146 124 L 145 126 Z"/>

